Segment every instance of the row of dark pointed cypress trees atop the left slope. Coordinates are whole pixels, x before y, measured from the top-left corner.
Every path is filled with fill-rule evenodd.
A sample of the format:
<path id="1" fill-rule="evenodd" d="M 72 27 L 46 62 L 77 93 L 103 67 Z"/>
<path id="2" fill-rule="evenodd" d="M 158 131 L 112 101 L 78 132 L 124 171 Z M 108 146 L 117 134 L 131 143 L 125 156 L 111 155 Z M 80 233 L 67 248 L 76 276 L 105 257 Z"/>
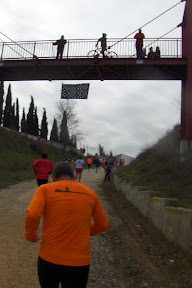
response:
<path id="1" fill-rule="evenodd" d="M 59 116 L 61 117 L 60 125 L 58 125 L 58 121 L 56 118 L 54 118 L 48 139 L 48 121 L 46 109 L 43 108 L 42 120 L 41 124 L 39 125 L 37 106 L 35 106 L 34 98 L 31 96 L 28 112 L 26 114 L 25 108 L 23 108 L 22 118 L 20 120 L 19 100 L 16 98 L 16 102 L 13 103 L 11 84 L 8 86 L 6 99 L 4 101 L 4 82 L 1 81 L 0 83 L 0 125 L 57 143 L 62 143 L 64 146 L 77 148 L 77 135 L 72 134 L 70 136 L 68 130 L 68 122 L 71 122 L 71 125 L 74 127 L 74 124 L 77 125 L 79 121 L 75 118 L 73 105 L 69 105 L 69 103 L 67 103 L 65 106 L 59 105 L 58 108 Z"/>

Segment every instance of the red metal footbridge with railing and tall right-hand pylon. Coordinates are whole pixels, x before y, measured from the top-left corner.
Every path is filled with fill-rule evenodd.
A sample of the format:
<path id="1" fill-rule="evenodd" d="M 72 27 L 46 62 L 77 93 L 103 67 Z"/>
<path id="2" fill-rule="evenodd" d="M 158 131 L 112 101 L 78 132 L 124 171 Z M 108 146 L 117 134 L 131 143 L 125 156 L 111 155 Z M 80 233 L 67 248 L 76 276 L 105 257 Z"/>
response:
<path id="1" fill-rule="evenodd" d="M 181 146 L 192 150 L 192 0 L 184 1 L 182 39 L 144 40 L 147 52 L 160 47 L 160 59 L 137 59 L 134 39 L 108 39 L 114 53 L 106 58 L 89 57 L 96 39 L 68 40 L 63 59 L 53 41 L 2 42 L 0 80 L 181 80 Z"/>

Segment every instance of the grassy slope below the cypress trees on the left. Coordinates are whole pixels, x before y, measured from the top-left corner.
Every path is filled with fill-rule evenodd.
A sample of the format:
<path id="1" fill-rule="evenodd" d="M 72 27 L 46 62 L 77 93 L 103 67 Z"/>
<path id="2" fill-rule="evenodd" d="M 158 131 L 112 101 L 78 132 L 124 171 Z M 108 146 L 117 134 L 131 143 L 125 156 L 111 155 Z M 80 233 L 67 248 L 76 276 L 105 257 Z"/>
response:
<path id="1" fill-rule="evenodd" d="M 34 179 L 32 163 L 41 157 L 42 152 L 46 152 L 53 163 L 64 158 L 62 149 L 38 143 L 0 127 L 0 189 Z M 66 157 L 76 159 L 77 155 L 71 153 Z"/>

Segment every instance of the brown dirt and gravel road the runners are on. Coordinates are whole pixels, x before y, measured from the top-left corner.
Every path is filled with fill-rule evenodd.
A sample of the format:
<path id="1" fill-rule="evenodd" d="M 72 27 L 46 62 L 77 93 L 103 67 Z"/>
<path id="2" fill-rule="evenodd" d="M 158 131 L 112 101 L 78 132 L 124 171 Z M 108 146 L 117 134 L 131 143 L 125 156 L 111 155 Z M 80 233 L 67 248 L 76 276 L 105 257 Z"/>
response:
<path id="1" fill-rule="evenodd" d="M 103 181 L 104 172 L 84 171 L 82 182 L 95 190 L 110 230 L 91 239 L 88 288 L 191 288 L 192 256 L 163 235 Z M 24 239 L 24 216 L 36 189 L 25 181 L 0 191 L 0 287 L 38 288 L 39 243 Z"/>

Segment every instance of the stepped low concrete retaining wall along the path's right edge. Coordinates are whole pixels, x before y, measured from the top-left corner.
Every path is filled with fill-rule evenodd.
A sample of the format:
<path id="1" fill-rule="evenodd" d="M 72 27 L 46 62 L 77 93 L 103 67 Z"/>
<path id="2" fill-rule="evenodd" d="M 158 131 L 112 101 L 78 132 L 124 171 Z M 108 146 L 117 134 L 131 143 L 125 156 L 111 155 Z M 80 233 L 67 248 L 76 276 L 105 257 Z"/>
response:
<path id="1" fill-rule="evenodd" d="M 133 186 L 114 175 L 117 191 L 142 215 L 146 216 L 172 242 L 192 253 L 192 210 L 177 206 L 177 199 L 159 197 L 160 193 L 147 191 L 146 187 Z"/>

